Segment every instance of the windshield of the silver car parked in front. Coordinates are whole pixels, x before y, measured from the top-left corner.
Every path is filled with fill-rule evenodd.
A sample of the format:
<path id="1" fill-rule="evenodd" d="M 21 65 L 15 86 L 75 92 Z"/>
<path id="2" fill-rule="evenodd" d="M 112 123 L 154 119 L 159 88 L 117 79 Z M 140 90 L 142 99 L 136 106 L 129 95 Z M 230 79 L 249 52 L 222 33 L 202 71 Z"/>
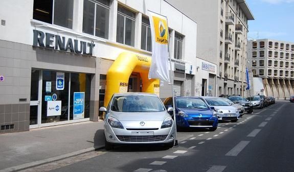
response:
<path id="1" fill-rule="evenodd" d="M 159 112 L 165 108 L 157 96 L 123 95 L 114 97 L 111 110 L 117 112 Z"/>

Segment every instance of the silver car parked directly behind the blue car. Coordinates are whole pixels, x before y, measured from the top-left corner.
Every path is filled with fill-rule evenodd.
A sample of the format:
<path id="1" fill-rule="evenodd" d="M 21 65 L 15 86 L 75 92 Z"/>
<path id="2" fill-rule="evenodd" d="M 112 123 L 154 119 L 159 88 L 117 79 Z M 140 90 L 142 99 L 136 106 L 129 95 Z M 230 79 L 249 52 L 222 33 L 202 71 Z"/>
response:
<path id="1" fill-rule="evenodd" d="M 210 107 L 214 107 L 218 120 L 237 121 L 240 118 L 239 110 L 224 101 L 223 97 L 201 96 L 200 99 L 205 101 Z"/>

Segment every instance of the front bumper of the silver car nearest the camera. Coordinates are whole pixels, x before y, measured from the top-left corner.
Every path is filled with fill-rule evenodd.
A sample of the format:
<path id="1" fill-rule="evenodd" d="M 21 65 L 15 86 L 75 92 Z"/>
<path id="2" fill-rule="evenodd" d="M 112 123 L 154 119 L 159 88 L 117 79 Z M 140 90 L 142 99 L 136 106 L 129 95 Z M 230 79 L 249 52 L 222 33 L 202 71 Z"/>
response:
<path id="1" fill-rule="evenodd" d="M 175 125 L 158 130 L 126 130 L 112 128 L 107 122 L 104 125 L 104 134 L 112 144 L 162 144 L 174 141 Z"/>

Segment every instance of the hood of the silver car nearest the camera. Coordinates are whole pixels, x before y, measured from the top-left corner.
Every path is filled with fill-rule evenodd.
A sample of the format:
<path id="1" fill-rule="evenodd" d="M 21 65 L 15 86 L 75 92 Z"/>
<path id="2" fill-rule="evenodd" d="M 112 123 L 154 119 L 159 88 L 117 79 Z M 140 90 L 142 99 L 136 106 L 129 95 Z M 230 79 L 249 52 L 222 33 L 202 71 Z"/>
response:
<path id="1" fill-rule="evenodd" d="M 119 121 L 164 121 L 170 115 L 166 111 L 161 112 L 115 112 L 111 111 L 110 116 Z"/>

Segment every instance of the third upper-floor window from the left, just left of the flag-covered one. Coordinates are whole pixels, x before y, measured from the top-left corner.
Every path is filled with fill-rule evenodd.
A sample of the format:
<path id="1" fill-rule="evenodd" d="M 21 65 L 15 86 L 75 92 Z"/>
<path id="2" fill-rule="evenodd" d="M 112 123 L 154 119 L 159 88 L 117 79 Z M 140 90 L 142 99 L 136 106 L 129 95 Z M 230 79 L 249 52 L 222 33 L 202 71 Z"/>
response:
<path id="1" fill-rule="evenodd" d="M 117 42 L 134 46 L 135 38 L 135 13 L 118 6 Z"/>

